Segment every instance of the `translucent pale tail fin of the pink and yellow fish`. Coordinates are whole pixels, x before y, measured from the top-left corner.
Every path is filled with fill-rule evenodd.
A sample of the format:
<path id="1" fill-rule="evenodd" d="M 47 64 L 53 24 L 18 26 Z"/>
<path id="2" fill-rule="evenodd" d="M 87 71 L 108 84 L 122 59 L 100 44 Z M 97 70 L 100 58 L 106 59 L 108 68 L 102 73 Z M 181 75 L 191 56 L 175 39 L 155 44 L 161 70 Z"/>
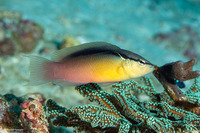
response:
<path id="1" fill-rule="evenodd" d="M 30 81 L 28 86 L 41 85 L 50 82 L 45 75 L 50 72 L 46 69 L 45 64 L 51 61 L 39 56 L 28 56 L 30 59 Z"/>

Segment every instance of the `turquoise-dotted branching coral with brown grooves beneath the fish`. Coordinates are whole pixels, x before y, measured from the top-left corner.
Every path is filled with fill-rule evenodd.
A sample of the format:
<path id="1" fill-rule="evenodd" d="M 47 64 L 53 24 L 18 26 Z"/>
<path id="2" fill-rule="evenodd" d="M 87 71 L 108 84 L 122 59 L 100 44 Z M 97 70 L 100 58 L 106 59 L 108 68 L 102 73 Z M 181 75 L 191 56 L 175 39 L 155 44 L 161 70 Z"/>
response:
<path id="1" fill-rule="evenodd" d="M 73 126 L 77 132 L 164 133 L 199 130 L 200 117 L 197 114 L 176 105 L 165 91 L 157 93 L 149 78 L 142 79 L 145 86 L 134 80 L 114 84 L 112 94 L 105 92 L 98 84 L 78 86 L 76 90 L 91 102 L 98 103 L 98 106 L 85 105 L 64 109 L 49 100 L 49 116 L 55 125 Z M 197 86 L 197 83 L 198 80 L 195 79 L 192 86 Z M 193 92 L 191 89 L 193 88 L 185 93 L 190 95 L 189 92 Z M 151 100 L 139 101 L 137 95 L 140 93 L 146 93 Z"/>

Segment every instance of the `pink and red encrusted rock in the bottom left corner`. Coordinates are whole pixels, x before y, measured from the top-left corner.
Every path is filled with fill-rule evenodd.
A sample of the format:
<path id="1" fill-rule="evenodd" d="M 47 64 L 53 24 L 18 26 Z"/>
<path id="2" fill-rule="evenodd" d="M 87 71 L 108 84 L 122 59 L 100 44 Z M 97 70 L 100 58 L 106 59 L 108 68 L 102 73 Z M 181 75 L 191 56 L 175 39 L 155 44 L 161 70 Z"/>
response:
<path id="1" fill-rule="evenodd" d="M 41 94 L 0 96 L 0 131 L 49 132 Z"/>

